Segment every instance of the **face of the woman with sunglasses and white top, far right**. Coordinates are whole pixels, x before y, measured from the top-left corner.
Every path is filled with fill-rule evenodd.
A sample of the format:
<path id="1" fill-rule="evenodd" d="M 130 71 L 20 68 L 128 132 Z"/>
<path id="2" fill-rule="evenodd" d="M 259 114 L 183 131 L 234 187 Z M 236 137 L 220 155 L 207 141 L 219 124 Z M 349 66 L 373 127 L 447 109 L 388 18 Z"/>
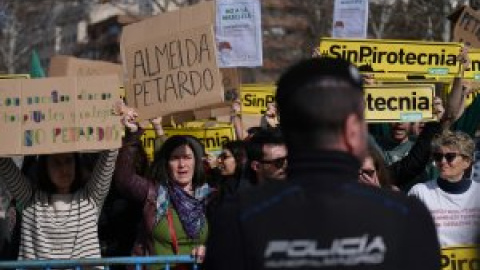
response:
<path id="1" fill-rule="evenodd" d="M 463 173 L 470 166 L 470 160 L 460 155 L 460 151 L 453 147 L 440 147 L 433 153 L 433 160 L 440 172 L 440 177 L 450 182 L 460 181 Z"/>

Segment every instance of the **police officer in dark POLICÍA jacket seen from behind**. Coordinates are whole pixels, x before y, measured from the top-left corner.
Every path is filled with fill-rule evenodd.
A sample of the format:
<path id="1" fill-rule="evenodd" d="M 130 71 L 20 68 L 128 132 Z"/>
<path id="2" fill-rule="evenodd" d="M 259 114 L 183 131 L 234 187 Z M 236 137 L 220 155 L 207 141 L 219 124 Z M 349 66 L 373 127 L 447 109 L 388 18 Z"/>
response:
<path id="1" fill-rule="evenodd" d="M 439 269 L 428 209 L 358 183 L 367 128 L 357 69 L 320 57 L 295 65 L 277 85 L 289 181 L 241 194 L 219 211 L 205 268 Z"/>

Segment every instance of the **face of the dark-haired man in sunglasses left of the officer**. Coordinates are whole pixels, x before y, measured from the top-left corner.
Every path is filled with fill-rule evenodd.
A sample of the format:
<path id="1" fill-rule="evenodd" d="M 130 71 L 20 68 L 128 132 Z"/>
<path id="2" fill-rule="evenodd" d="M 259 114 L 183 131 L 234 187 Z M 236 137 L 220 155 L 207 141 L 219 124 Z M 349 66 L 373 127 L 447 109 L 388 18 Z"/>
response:
<path id="1" fill-rule="evenodd" d="M 263 160 L 256 166 L 257 179 L 284 180 L 287 168 L 287 148 L 284 144 L 266 144 L 263 146 Z"/>

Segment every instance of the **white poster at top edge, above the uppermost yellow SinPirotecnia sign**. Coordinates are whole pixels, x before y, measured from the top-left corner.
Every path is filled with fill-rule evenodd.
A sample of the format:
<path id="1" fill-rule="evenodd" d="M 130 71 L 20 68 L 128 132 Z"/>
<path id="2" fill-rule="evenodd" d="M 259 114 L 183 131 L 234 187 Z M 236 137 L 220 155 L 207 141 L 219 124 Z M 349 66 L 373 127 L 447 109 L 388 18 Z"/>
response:
<path id="1" fill-rule="evenodd" d="M 334 38 L 367 38 L 368 0 L 335 0 L 332 25 Z"/>

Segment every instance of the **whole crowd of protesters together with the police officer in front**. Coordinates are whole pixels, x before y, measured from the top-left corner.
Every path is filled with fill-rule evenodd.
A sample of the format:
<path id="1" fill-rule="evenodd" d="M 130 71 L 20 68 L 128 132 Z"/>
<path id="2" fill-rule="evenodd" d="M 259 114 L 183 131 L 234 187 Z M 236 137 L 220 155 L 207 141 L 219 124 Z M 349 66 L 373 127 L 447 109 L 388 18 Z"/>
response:
<path id="1" fill-rule="evenodd" d="M 419 125 L 394 123 L 378 138 L 364 83 L 344 60 L 301 61 L 279 79 L 258 128 L 243 130 L 233 103 L 237 140 L 214 160 L 193 136 L 166 138 L 157 118 L 161 146 L 149 162 L 127 107 L 119 150 L 0 158 L 0 255 L 190 254 L 208 270 L 439 269 L 442 247 L 476 245 L 480 229 L 478 149 L 454 128 L 469 113 L 468 89 L 459 76 L 432 104 L 437 121 L 416 134 Z M 446 223 L 449 211 L 468 219 Z"/>

